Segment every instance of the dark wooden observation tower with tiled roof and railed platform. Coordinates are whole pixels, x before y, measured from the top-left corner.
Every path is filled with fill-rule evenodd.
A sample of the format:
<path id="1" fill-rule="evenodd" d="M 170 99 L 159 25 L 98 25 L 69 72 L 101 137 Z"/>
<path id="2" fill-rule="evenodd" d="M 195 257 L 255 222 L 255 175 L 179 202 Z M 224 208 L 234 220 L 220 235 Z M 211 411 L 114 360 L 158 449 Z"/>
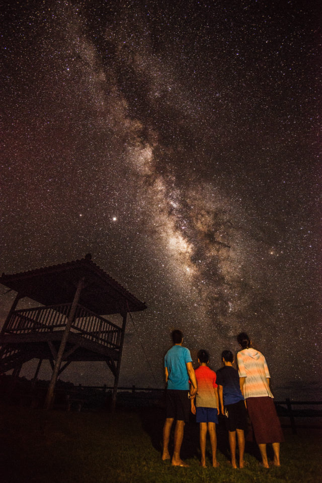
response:
<path id="1" fill-rule="evenodd" d="M 127 314 L 146 309 L 92 261 L 81 260 L 0 277 L 0 284 L 17 292 L 0 334 L 0 371 L 39 359 L 52 367 L 45 405 L 50 407 L 57 377 L 71 363 L 104 361 L 114 376 L 116 401 Z M 41 306 L 16 310 L 28 297 Z M 120 314 L 122 326 L 103 317 Z"/>

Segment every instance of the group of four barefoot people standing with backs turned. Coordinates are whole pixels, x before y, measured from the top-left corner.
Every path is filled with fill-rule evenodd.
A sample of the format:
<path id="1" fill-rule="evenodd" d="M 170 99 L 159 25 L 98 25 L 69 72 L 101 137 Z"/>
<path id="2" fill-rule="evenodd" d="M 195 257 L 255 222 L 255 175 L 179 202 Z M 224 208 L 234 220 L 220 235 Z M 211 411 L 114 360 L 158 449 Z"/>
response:
<path id="1" fill-rule="evenodd" d="M 206 437 L 209 433 L 212 466 L 216 458 L 216 424 L 221 414 L 226 422 L 229 437 L 231 465 L 237 468 L 236 440 L 239 451 L 239 468 L 244 467 L 245 433 L 248 417 L 255 440 L 259 445 L 263 467 L 269 468 L 266 445 L 272 444 L 273 464 L 280 466 L 280 443 L 284 441 L 277 417 L 273 394 L 270 390 L 270 373 L 263 354 L 252 347 L 245 332 L 237 336 L 240 351 L 237 352 L 238 371 L 233 367 L 233 354 L 225 350 L 221 354 L 222 367 L 214 372 L 208 367 L 207 351 L 198 352 L 199 367 L 194 370 L 190 351 L 183 347 L 183 334 L 172 332 L 173 347 L 165 356 L 166 421 L 163 429 L 162 459 L 171 459 L 174 466 L 189 466 L 180 456 L 185 423 L 190 412 L 196 415 L 200 430 L 201 465 L 206 466 Z M 172 425 L 176 421 L 174 450 L 169 453 Z"/>

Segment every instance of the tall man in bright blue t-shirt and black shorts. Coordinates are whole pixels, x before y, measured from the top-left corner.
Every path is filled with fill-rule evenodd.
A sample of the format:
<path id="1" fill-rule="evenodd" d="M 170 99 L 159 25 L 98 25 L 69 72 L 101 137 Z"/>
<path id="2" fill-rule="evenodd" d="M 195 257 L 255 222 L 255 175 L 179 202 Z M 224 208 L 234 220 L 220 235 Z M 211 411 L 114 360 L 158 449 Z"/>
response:
<path id="1" fill-rule="evenodd" d="M 183 334 L 180 330 L 172 332 L 174 346 L 165 357 L 166 392 L 166 422 L 163 428 L 162 459 L 170 459 L 169 439 L 174 420 L 176 420 L 174 452 L 171 463 L 173 466 L 189 466 L 180 457 L 181 444 L 185 423 L 189 421 L 189 379 L 193 386 L 190 395 L 197 393 L 197 380 L 192 365 L 190 351 L 182 347 Z"/>

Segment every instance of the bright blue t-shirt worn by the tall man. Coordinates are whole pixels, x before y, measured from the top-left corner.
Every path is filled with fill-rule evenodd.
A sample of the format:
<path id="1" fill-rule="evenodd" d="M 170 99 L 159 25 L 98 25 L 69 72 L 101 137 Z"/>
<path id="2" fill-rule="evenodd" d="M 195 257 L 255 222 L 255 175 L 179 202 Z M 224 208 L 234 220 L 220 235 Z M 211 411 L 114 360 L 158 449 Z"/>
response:
<path id="1" fill-rule="evenodd" d="M 182 346 L 169 349 L 165 357 L 165 367 L 169 373 L 168 389 L 189 390 L 188 362 L 192 362 L 189 349 Z"/>

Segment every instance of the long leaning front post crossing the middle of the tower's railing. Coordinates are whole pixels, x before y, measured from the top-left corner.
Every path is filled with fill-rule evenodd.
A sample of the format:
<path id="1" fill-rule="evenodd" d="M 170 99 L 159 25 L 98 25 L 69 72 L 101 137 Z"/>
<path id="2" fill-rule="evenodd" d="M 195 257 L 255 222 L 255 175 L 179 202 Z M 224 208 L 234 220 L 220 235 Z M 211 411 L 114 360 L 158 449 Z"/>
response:
<path id="1" fill-rule="evenodd" d="M 61 362 L 63 360 L 64 350 L 65 350 L 67 339 L 68 339 L 68 334 L 69 334 L 69 331 L 70 331 L 71 324 L 72 324 L 74 317 L 75 317 L 75 312 L 76 312 L 76 307 L 77 307 L 77 304 L 78 304 L 78 301 L 79 301 L 79 297 L 81 296 L 81 292 L 82 292 L 82 289 L 84 287 L 85 287 L 85 281 L 84 281 L 84 278 L 82 278 L 78 282 L 77 289 L 76 289 L 76 292 L 75 292 L 75 295 L 74 295 L 74 300 L 72 301 L 72 304 L 71 304 L 71 308 L 70 308 L 69 316 L 68 316 L 68 319 L 67 319 L 66 327 L 65 327 L 64 333 L 61 337 L 61 342 L 60 342 L 59 350 L 58 350 L 58 353 L 57 353 L 57 358 L 56 358 L 56 361 L 55 361 L 51 381 L 49 383 L 49 387 L 48 387 L 48 391 L 47 391 L 47 395 L 46 395 L 46 400 L 45 400 L 45 408 L 46 409 L 49 409 L 52 405 L 52 402 L 53 402 L 54 389 L 55 389 L 57 377 L 58 377 L 58 374 L 59 374 L 60 365 L 61 365 Z"/>

